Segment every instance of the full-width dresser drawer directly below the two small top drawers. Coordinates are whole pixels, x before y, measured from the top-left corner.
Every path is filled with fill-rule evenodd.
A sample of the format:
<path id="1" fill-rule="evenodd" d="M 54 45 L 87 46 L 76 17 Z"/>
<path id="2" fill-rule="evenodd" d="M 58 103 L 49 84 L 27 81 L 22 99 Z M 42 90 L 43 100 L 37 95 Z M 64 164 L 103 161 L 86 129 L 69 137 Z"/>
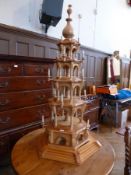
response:
<path id="1" fill-rule="evenodd" d="M 0 93 L 22 90 L 48 89 L 51 82 L 47 77 L 0 77 Z"/>

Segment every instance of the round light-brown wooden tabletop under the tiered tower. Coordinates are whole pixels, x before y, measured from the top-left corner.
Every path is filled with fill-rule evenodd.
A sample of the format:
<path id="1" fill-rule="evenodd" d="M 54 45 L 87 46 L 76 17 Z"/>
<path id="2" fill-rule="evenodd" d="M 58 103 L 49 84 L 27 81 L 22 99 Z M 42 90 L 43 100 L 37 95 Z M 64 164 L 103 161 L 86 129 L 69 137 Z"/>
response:
<path id="1" fill-rule="evenodd" d="M 114 150 L 103 138 L 102 147 L 82 165 L 72 165 L 40 157 L 45 144 L 44 129 L 22 137 L 12 151 L 12 164 L 18 175 L 107 175 L 114 165 Z"/>

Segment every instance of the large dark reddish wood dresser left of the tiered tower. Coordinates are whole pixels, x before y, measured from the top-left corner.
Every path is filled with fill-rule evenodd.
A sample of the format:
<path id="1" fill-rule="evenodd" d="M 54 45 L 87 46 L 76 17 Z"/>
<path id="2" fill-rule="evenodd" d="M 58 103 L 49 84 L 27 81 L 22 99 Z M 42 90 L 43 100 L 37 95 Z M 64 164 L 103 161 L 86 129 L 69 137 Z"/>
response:
<path id="1" fill-rule="evenodd" d="M 0 55 L 0 159 L 27 132 L 50 116 L 53 59 Z"/>

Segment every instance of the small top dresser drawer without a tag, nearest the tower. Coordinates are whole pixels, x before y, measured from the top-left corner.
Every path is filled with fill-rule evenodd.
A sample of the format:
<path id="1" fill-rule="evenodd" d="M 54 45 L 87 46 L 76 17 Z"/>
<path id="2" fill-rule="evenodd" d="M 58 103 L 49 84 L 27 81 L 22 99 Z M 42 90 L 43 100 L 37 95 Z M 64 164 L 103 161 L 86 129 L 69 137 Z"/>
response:
<path id="1" fill-rule="evenodd" d="M 28 76 L 44 75 L 48 76 L 48 64 L 24 64 L 24 74 Z"/>

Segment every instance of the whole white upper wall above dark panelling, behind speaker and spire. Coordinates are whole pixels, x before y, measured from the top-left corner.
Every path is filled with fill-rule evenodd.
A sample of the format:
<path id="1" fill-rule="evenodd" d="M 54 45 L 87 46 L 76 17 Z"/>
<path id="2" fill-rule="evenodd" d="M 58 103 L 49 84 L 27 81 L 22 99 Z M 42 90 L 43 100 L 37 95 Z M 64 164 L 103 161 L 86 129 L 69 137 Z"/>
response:
<path id="1" fill-rule="evenodd" d="M 43 0 L 0 0 L 0 23 L 44 33 L 39 23 L 39 10 Z M 121 56 L 129 56 L 131 50 L 131 7 L 126 0 L 64 0 L 62 19 L 56 27 L 50 27 L 48 35 L 61 37 L 67 17 L 68 4 L 73 6 L 75 38 L 80 43 L 112 53 L 120 50 Z M 79 19 L 80 33 L 78 34 Z"/>

